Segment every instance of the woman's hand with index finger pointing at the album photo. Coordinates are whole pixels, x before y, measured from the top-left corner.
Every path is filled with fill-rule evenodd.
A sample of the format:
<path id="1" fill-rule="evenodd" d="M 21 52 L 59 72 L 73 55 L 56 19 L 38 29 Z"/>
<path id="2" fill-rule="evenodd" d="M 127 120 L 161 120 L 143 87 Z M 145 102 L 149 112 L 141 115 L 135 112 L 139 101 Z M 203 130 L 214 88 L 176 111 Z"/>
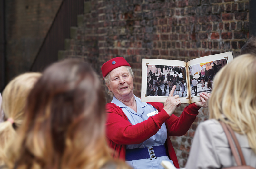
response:
<path id="1" fill-rule="evenodd" d="M 164 103 L 163 109 L 171 116 L 174 111 L 176 110 L 176 107 L 181 106 L 181 99 L 179 98 L 179 95 L 173 96 L 174 90 L 176 89 L 176 85 L 172 87 L 172 90 L 169 94 L 169 97 Z"/>

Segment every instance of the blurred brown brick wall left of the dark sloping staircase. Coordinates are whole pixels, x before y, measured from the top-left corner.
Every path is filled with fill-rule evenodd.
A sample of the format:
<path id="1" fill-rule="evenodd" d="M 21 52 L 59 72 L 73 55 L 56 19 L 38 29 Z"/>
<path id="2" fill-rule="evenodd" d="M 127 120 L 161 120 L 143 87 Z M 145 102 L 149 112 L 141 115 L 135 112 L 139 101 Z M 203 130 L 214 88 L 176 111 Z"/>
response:
<path id="1" fill-rule="evenodd" d="M 5 1 L 8 81 L 20 73 L 29 71 L 61 1 Z"/>

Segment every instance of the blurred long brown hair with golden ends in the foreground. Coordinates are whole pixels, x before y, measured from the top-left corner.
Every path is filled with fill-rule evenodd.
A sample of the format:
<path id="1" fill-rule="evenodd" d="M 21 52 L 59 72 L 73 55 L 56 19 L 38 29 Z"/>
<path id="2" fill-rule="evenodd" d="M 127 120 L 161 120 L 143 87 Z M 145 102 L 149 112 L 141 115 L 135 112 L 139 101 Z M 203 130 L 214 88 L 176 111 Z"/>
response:
<path id="1" fill-rule="evenodd" d="M 110 160 L 105 103 L 100 80 L 87 63 L 68 59 L 48 67 L 28 96 L 9 168 L 104 167 Z"/>

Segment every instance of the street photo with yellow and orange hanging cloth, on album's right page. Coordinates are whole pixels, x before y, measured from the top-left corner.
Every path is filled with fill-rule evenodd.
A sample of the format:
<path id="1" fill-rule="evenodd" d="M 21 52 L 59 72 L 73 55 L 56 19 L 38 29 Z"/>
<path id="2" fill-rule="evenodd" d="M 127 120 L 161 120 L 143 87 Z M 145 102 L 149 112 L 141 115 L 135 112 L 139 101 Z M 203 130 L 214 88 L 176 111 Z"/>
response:
<path id="1" fill-rule="evenodd" d="M 226 59 L 195 64 L 189 67 L 191 97 L 199 93 L 211 93 L 214 87 L 213 79 L 216 73 L 227 64 Z"/>

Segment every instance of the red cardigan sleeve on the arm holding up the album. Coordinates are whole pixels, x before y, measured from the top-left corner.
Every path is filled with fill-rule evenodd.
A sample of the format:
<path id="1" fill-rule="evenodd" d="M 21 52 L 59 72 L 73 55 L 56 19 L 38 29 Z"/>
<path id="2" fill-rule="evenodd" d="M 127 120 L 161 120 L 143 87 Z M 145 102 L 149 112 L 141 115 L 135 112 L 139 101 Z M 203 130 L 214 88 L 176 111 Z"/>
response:
<path id="1" fill-rule="evenodd" d="M 189 130 L 198 114 L 200 107 L 192 103 L 184 108 L 180 117 L 174 114 L 165 122 L 169 136 L 183 136 Z"/>

